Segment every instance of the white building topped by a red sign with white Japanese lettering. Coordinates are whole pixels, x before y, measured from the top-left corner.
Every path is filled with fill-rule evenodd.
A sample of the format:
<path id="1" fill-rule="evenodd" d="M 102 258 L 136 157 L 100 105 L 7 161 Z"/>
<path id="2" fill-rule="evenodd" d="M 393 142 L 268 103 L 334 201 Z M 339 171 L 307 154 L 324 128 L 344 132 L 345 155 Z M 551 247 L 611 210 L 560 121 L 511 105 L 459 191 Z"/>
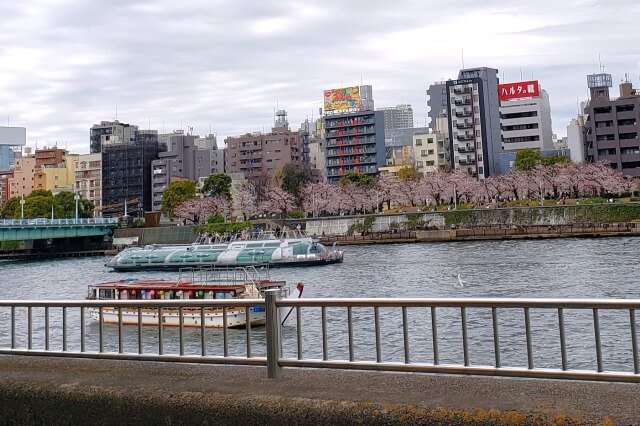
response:
<path id="1" fill-rule="evenodd" d="M 537 151 L 554 149 L 551 126 L 551 105 L 546 90 L 538 89 L 538 82 L 500 85 L 501 88 L 526 84 L 537 95 L 515 95 L 518 98 L 501 100 L 502 147 L 505 151 L 531 148 Z M 520 86 L 519 86 L 520 87 Z M 525 90 L 526 93 L 530 93 Z"/>

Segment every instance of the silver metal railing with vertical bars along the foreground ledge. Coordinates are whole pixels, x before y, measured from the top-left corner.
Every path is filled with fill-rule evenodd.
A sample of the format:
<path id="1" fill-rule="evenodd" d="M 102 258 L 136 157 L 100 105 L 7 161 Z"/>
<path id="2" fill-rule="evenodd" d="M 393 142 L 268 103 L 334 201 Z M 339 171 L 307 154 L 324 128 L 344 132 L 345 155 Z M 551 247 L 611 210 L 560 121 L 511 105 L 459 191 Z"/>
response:
<path id="1" fill-rule="evenodd" d="M 636 299 L 278 300 L 276 293 L 267 291 L 266 300 L 0 301 L 0 353 L 261 365 L 269 377 L 282 367 L 311 367 L 640 382 Z M 237 308 L 247 319 L 264 310 L 266 327 L 205 327 L 212 309 L 228 325 Z M 107 324 L 113 309 L 116 320 Z M 187 327 L 183 316 L 194 312 L 202 321 Z M 161 320 L 143 326 L 143 315 Z M 167 325 L 171 317 L 177 326 Z"/>

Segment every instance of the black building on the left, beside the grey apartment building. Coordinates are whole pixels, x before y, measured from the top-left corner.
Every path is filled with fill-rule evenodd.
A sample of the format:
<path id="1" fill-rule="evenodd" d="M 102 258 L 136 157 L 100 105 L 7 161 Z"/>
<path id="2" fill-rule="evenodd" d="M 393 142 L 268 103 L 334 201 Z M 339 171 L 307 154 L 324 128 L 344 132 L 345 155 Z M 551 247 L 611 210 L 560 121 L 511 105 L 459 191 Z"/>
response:
<path id="1" fill-rule="evenodd" d="M 102 215 L 129 216 L 151 211 L 151 162 L 158 158 L 158 132 L 136 131 L 132 141 L 102 143 Z"/>

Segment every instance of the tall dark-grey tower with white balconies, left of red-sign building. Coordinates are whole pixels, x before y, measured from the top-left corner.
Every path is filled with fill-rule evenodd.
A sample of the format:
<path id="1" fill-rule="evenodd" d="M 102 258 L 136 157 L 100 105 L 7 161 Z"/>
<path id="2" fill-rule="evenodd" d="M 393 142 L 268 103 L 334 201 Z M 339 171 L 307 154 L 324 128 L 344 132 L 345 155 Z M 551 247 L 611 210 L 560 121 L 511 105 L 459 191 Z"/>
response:
<path id="1" fill-rule="evenodd" d="M 478 179 L 500 172 L 502 136 L 498 101 L 498 70 L 461 70 L 446 82 L 451 169 Z"/>

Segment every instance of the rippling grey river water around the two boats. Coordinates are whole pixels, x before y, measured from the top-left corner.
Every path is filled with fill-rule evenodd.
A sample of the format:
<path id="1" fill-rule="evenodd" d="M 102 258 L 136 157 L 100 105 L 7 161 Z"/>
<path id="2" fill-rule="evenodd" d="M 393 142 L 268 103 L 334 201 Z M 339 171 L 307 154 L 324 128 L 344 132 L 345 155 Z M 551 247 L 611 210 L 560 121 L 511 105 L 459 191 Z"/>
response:
<path id="1" fill-rule="evenodd" d="M 482 241 L 438 244 L 348 246 L 339 265 L 273 269 L 271 277 L 305 283 L 303 297 L 545 297 L 640 299 L 640 238 L 558 239 L 540 241 Z M 0 299 L 83 299 L 87 285 L 127 277 L 177 278 L 171 272 L 116 273 L 103 265 L 106 258 L 71 258 L 37 262 L 0 263 Z M 459 284 L 458 276 L 465 281 Z M 61 347 L 60 312 L 52 309 L 50 341 Z M 0 311 L 0 347 L 10 346 L 10 313 Z M 591 312 L 565 313 L 569 368 L 595 369 Z M 303 356 L 322 358 L 320 310 L 303 310 Z M 348 359 L 346 309 L 327 310 L 329 359 Z M 17 345 L 26 347 L 26 311 L 17 311 Z M 372 309 L 354 308 L 356 360 L 375 360 Z M 492 365 L 494 359 L 490 310 L 467 312 L 470 361 Z M 560 367 L 557 313 L 532 310 L 536 367 Z M 79 348 L 79 312 L 68 312 L 68 348 Z M 296 320 L 283 329 L 283 352 L 296 357 Z M 402 313 L 381 309 L 383 361 L 403 361 Z M 44 347 L 43 313 L 34 310 L 34 348 Z M 602 351 L 605 370 L 632 371 L 629 314 L 602 311 Z M 412 362 L 433 362 L 431 317 L 427 310 L 408 309 Z M 441 363 L 462 363 L 460 312 L 438 310 Z M 522 310 L 500 310 L 503 366 L 527 364 Z M 137 350 L 137 328 L 125 327 L 125 351 Z M 87 318 L 87 350 L 97 350 L 99 329 Z M 246 355 L 244 330 L 229 330 L 229 355 Z M 207 353 L 222 355 L 222 331 L 207 330 Z M 157 329 L 143 333 L 145 352 L 157 353 Z M 175 353 L 177 330 L 164 332 L 165 353 Z M 252 354 L 264 356 L 264 327 L 252 330 Z M 117 327 L 105 325 L 105 350 L 117 351 Z M 200 352 L 200 334 L 185 330 L 185 352 Z"/>

